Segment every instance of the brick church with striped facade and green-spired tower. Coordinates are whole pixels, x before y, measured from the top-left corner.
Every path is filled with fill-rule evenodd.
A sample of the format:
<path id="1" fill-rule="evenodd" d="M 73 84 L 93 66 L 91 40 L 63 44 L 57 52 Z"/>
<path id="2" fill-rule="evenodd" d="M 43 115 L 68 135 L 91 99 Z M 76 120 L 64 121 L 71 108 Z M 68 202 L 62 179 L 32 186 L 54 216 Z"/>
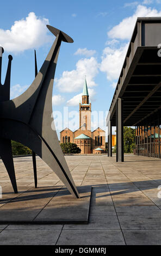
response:
<path id="1" fill-rule="evenodd" d="M 80 154 L 105 153 L 106 133 L 100 127 L 91 131 L 91 103 L 89 103 L 86 78 L 84 82 L 82 103 L 79 103 L 79 128 L 71 131 L 65 128 L 60 132 L 60 143 L 76 143 L 81 149 Z"/>

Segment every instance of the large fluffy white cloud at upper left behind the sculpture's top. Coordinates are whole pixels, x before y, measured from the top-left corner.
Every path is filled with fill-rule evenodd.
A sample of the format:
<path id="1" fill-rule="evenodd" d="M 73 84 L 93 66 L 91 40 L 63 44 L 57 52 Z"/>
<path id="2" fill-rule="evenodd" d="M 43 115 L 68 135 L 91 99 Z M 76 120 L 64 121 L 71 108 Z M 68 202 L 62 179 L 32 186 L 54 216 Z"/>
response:
<path id="1" fill-rule="evenodd" d="M 40 47 L 51 40 L 47 35 L 48 19 L 29 13 L 26 19 L 14 22 L 10 30 L 0 29 L 0 41 L 4 51 L 21 52 L 30 48 Z"/>

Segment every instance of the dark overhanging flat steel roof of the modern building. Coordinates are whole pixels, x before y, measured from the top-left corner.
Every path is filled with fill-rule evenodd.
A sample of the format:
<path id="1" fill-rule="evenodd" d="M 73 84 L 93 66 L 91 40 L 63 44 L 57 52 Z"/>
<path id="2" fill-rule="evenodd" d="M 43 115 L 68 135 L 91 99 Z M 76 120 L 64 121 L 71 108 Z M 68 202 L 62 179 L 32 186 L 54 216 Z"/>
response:
<path id="1" fill-rule="evenodd" d="M 160 44 L 160 46 L 158 46 Z M 116 126 L 116 101 L 122 99 L 123 126 L 144 125 L 161 110 L 161 17 L 139 17 L 110 105 L 107 125 Z"/>

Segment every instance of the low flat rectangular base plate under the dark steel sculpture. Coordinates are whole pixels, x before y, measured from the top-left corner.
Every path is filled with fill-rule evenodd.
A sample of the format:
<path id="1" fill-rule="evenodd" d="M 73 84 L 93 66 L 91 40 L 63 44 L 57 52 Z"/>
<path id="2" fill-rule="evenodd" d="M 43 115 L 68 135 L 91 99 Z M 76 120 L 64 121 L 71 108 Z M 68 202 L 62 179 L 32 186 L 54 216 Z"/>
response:
<path id="1" fill-rule="evenodd" d="M 0 224 L 87 224 L 91 186 L 77 188 L 79 199 L 63 186 L 3 187 Z"/>

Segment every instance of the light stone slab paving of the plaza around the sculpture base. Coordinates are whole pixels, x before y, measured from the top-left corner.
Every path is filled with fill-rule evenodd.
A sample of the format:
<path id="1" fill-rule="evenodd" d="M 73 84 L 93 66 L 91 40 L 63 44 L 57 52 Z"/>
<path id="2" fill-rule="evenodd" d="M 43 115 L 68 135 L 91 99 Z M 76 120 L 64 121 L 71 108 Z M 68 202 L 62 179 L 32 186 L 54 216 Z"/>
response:
<path id="1" fill-rule="evenodd" d="M 65 156 L 77 186 L 92 185 L 89 224 L 4 225 L 0 245 L 160 245 L 161 161 L 125 156 Z M 18 190 L 34 186 L 31 157 L 14 159 Z M 38 186 L 63 186 L 37 157 Z M 0 185 L 10 187 L 0 160 Z M 78 199 L 79 200 L 79 199 Z M 0 205 L 0 211 L 1 206 Z"/>

